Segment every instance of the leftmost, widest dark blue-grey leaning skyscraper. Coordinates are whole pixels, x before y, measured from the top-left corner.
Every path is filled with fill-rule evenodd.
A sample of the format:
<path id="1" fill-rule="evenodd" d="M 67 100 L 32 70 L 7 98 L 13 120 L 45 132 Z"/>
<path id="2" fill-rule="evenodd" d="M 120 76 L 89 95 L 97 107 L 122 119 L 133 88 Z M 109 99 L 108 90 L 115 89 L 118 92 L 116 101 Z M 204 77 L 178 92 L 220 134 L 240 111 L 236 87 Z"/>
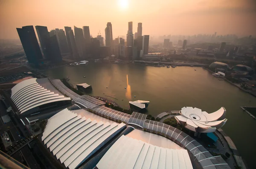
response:
<path id="1" fill-rule="evenodd" d="M 43 56 L 35 36 L 34 27 L 23 26 L 22 28 L 17 28 L 17 32 L 28 62 L 37 65 L 38 59 L 42 59 Z"/>

